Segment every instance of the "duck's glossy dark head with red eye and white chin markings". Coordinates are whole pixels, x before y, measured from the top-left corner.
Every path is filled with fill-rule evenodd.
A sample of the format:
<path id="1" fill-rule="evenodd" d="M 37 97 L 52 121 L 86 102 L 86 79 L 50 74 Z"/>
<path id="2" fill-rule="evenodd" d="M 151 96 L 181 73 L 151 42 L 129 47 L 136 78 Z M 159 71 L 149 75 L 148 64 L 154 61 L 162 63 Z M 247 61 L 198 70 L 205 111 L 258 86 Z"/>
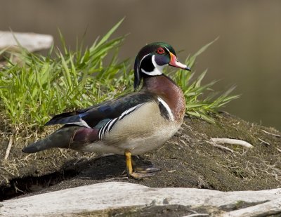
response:
<path id="1" fill-rule="evenodd" d="M 164 42 L 155 42 L 141 48 L 135 60 L 135 80 L 133 87 L 136 89 L 141 84 L 141 79 L 161 75 L 166 65 L 190 71 L 190 68 L 178 62 L 174 48 Z"/>

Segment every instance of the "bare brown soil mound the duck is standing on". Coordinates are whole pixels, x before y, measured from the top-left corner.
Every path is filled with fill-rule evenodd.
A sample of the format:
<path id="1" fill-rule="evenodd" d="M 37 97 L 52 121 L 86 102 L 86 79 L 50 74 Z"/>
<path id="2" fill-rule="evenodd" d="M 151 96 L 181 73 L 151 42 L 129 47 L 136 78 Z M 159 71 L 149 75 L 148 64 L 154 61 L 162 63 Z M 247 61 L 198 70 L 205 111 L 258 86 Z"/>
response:
<path id="1" fill-rule="evenodd" d="M 273 134 L 281 133 L 226 112 L 214 118 L 216 124 L 185 117 L 180 131 L 162 147 L 133 157 L 136 166 L 153 164 L 161 169 L 155 176 L 143 180 L 126 177 L 124 156 L 121 155 L 60 149 L 22 153 L 21 149 L 27 143 L 46 136 L 53 129 L 41 132 L 23 127 L 11 129 L 3 120 L 0 129 L 0 200 L 112 180 L 149 187 L 222 191 L 280 188 L 281 136 Z M 233 150 L 230 152 L 208 143 L 210 138 L 236 138 L 254 147 L 224 145 Z M 11 152 L 8 159 L 4 159 L 10 140 Z"/>

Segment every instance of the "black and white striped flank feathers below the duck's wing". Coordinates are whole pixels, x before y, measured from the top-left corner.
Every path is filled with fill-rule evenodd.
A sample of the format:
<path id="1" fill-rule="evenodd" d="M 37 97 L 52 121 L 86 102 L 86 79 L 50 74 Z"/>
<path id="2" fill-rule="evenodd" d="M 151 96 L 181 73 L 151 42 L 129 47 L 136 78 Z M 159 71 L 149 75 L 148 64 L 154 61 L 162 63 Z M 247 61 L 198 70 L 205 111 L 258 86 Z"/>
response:
<path id="1" fill-rule="evenodd" d="M 103 140 L 103 138 L 105 138 L 105 133 L 109 132 L 112 130 L 113 126 L 115 126 L 115 124 L 119 121 L 124 119 L 124 117 L 126 117 L 128 114 L 131 114 L 131 112 L 137 110 L 139 107 L 141 107 L 143 105 L 143 103 L 138 104 L 134 107 L 129 108 L 129 110 L 125 110 L 119 117 L 116 117 L 115 119 L 111 119 L 110 121 L 107 121 L 107 123 L 105 125 L 103 125 L 103 127 L 100 128 L 100 130 L 98 131 L 98 138 L 100 140 Z"/>

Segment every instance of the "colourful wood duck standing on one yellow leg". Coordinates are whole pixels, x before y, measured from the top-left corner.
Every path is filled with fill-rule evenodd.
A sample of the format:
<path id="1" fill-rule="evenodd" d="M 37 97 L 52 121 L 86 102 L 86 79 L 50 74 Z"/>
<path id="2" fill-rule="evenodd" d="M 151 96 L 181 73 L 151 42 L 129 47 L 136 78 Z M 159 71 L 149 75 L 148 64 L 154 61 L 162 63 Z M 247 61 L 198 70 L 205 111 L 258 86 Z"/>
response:
<path id="1" fill-rule="evenodd" d="M 163 74 L 166 65 L 190 70 L 178 62 L 169 44 L 152 43 L 136 56 L 134 88 L 140 91 L 74 112 L 55 115 L 45 126 L 64 124 L 50 136 L 27 145 L 33 153 L 51 147 L 86 152 L 124 154 L 128 176 L 151 176 L 156 169 L 133 171 L 131 154 L 155 150 L 174 136 L 185 114 L 181 88 Z"/>

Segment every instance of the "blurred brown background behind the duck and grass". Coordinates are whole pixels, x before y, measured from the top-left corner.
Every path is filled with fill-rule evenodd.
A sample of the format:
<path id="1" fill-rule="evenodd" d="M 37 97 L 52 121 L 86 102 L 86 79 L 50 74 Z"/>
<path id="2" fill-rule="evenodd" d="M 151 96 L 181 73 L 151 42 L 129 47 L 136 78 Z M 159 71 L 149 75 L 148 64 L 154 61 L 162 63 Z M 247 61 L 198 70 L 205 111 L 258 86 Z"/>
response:
<path id="1" fill-rule="evenodd" d="M 126 17 L 115 36 L 130 33 L 120 53 L 134 58 L 152 41 L 166 41 L 185 60 L 209 41 L 196 72 L 209 69 L 204 83 L 221 80 L 216 91 L 237 85 L 240 99 L 223 110 L 281 129 L 281 1 L 227 0 L 11 0 L 0 1 L 0 30 L 52 34 L 68 45 L 84 32 L 90 45 Z M 1 40 L 1 36 L 0 36 Z"/>

